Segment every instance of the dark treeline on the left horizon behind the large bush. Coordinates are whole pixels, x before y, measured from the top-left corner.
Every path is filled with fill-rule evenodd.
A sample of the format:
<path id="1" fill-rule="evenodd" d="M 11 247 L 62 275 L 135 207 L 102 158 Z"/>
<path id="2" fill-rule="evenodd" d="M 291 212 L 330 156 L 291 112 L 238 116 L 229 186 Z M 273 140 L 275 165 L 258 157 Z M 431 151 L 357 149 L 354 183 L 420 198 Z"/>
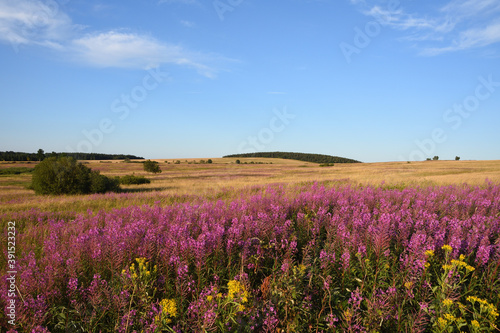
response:
<path id="1" fill-rule="evenodd" d="M 101 153 L 45 153 L 42 149 L 37 153 L 22 153 L 15 151 L 0 151 L 0 161 L 41 161 L 46 157 L 73 157 L 76 160 L 143 160 L 143 157 L 124 154 Z"/>

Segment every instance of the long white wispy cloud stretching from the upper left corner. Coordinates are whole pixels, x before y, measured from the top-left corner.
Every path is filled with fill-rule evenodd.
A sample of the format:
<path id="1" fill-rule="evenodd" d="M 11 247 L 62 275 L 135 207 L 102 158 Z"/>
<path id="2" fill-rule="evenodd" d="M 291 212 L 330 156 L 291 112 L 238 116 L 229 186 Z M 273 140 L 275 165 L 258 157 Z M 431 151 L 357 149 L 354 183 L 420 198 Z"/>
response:
<path id="1" fill-rule="evenodd" d="M 194 23 L 185 21 L 185 24 Z M 49 7 L 39 0 L 0 0 L 0 41 L 15 47 L 48 47 L 90 66 L 140 69 L 162 64 L 185 66 L 209 78 L 216 76 L 221 63 L 231 61 L 144 34 L 123 30 L 83 33 L 83 30 L 59 6 Z"/>

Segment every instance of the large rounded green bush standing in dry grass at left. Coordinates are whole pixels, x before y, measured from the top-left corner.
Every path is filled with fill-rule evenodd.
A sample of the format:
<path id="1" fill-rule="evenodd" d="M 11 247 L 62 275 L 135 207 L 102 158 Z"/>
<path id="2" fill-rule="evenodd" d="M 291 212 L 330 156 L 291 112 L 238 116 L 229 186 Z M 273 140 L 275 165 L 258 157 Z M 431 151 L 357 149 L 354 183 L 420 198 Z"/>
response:
<path id="1" fill-rule="evenodd" d="M 49 157 L 33 171 L 31 188 L 36 194 L 89 194 L 118 191 L 118 182 L 72 157 Z"/>

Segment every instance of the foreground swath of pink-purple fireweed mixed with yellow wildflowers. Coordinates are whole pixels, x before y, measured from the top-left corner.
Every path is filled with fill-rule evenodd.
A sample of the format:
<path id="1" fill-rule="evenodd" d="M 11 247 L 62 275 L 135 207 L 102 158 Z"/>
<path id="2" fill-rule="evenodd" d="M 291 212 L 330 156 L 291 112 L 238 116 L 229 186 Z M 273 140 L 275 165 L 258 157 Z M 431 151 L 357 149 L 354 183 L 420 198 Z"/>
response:
<path id="1" fill-rule="evenodd" d="M 490 183 L 274 185 L 227 200 L 32 210 L 17 225 L 17 326 L 2 311 L 2 331 L 500 330 Z"/>

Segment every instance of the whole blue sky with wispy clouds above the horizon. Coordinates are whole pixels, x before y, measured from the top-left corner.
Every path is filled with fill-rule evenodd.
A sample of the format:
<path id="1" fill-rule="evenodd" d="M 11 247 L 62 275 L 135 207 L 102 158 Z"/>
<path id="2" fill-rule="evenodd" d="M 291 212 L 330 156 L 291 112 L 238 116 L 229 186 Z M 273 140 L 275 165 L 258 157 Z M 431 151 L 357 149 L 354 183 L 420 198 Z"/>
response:
<path id="1" fill-rule="evenodd" d="M 0 0 L 0 150 L 500 159 L 497 0 Z"/>

